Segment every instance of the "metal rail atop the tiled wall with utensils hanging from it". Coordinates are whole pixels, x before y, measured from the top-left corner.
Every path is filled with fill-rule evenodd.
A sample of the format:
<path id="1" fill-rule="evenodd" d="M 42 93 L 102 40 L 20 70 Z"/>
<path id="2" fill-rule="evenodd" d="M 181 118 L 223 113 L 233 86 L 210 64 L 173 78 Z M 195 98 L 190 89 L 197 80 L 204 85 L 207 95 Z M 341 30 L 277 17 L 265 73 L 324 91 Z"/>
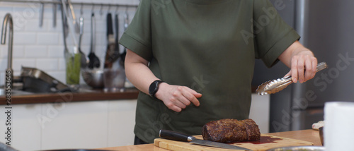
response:
<path id="1" fill-rule="evenodd" d="M 10 3 L 37 3 L 37 4 L 62 4 L 59 1 L 25 1 L 25 0 L 0 0 L 0 2 L 10 2 Z M 132 4 L 98 4 L 98 3 L 75 3 L 73 5 L 89 5 L 89 6 L 122 6 L 122 7 L 137 7 L 137 5 Z"/>

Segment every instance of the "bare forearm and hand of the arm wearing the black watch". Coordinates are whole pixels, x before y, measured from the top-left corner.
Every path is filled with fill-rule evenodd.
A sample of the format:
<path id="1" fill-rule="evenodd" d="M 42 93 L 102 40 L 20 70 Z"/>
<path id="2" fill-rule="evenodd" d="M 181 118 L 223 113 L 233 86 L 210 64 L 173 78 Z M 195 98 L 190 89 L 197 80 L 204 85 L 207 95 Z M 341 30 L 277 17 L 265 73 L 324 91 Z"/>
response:
<path id="1" fill-rule="evenodd" d="M 150 84 L 154 80 L 159 80 L 149 69 L 148 64 L 147 60 L 135 54 L 135 52 L 127 50 L 127 56 L 125 56 L 125 74 L 137 89 L 146 94 L 149 94 Z M 189 87 L 169 85 L 167 83 L 161 83 L 159 87 L 161 88 L 159 88 L 154 97 L 160 99 L 166 107 L 173 111 L 182 111 L 190 103 L 193 103 L 196 107 L 200 104 L 197 98 L 202 97 L 202 94 Z"/>

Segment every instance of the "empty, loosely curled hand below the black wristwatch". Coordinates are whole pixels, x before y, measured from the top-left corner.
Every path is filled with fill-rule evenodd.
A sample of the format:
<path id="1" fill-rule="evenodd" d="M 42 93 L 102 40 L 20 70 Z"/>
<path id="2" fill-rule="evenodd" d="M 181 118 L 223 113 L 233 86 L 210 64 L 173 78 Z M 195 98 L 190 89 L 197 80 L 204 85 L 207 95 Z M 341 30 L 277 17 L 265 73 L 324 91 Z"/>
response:
<path id="1" fill-rule="evenodd" d="M 198 107 L 200 102 L 197 98 L 202 97 L 202 94 L 189 87 L 161 83 L 155 97 L 164 102 L 169 109 L 180 112 L 190 103 Z"/>

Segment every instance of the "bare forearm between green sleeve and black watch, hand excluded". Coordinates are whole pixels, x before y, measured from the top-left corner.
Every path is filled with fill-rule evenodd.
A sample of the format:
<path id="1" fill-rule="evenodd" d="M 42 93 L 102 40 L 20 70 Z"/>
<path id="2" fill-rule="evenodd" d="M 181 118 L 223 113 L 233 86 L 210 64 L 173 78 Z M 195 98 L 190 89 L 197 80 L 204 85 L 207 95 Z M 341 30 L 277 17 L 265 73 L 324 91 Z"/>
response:
<path id="1" fill-rule="evenodd" d="M 137 59 L 138 57 L 138 59 Z M 125 58 L 125 74 L 128 80 L 142 92 L 149 94 L 149 85 L 158 80 L 147 66 L 148 61 L 142 60 L 131 50 L 127 50 Z"/>

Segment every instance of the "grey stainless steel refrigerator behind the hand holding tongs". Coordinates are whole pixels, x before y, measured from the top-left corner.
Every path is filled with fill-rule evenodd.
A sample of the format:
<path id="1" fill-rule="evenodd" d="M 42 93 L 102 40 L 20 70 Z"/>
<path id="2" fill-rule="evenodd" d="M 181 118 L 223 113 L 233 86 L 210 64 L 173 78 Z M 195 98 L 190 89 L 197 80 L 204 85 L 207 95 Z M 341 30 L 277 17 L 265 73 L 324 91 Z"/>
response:
<path id="1" fill-rule="evenodd" d="M 354 102 L 354 1 L 270 0 L 280 16 L 301 36 L 319 62 L 329 68 L 303 84 L 270 96 L 270 132 L 312 128 L 324 120 L 325 102 Z M 253 85 L 281 78 L 289 68 L 266 68 L 256 61 Z"/>

